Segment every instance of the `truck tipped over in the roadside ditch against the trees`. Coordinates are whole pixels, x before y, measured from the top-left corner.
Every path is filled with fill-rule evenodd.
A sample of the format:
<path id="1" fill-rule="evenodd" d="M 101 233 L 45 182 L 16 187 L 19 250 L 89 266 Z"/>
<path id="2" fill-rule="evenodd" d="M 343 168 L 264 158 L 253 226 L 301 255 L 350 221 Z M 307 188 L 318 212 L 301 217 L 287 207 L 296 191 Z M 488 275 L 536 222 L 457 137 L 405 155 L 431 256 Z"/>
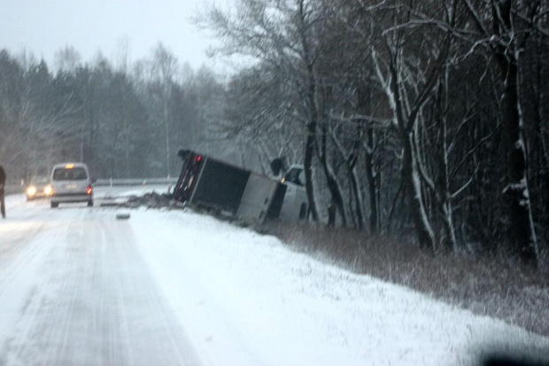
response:
<path id="1" fill-rule="evenodd" d="M 303 167 L 291 167 L 280 179 L 259 175 L 189 150 L 180 150 L 182 173 L 174 199 L 247 222 L 304 220 L 308 205 Z"/>

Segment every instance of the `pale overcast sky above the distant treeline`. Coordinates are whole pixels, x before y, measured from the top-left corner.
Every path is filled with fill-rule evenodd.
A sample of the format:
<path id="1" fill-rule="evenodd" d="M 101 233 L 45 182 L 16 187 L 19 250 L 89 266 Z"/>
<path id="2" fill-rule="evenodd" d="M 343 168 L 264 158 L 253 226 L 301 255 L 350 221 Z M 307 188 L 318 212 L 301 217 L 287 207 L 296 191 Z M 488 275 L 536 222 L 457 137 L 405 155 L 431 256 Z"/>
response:
<path id="1" fill-rule="evenodd" d="M 207 0 L 211 1 L 211 0 Z M 54 54 L 73 46 L 89 61 L 101 50 L 114 59 L 128 39 L 132 60 L 150 57 L 159 42 L 180 63 L 215 67 L 205 50 L 213 39 L 189 18 L 205 0 L 0 0 L 0 49 L 24 48 L 53 66 Z"/>

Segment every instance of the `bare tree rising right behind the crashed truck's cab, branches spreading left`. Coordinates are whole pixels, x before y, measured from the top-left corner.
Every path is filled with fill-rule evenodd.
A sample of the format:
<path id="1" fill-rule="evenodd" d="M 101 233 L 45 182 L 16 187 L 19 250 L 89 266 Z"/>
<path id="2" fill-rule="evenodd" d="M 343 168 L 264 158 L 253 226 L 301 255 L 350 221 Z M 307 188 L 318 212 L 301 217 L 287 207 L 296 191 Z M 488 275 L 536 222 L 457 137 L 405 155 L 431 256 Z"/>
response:
<path id="1" fill-rule="evenodd" d="M 307 0 L 242 0 L 236 14 L 213 8 L 198 23 L 224 38 L 220 53 L 268 63 L 298 96 L 296 114 L 305 121 L 305 189 L 313 221 L 319 220 L 313 188 L 313 158 L 320 119 L 314 37 L 320 13 Z"/>

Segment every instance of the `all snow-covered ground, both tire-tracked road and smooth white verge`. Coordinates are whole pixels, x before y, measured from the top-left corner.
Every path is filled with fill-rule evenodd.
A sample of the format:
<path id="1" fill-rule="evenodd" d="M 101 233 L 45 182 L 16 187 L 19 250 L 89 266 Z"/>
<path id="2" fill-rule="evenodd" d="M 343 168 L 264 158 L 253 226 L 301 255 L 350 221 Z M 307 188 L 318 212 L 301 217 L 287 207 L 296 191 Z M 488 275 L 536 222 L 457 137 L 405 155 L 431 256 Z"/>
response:
<path id="1" fill-rule="evenodd" d="M 547 338 L 205 215 L 141 209 L 116 221 L 113 208 L 7 201 L 0 364 L 469 365 L 493 349 L 549 357 Z"/>

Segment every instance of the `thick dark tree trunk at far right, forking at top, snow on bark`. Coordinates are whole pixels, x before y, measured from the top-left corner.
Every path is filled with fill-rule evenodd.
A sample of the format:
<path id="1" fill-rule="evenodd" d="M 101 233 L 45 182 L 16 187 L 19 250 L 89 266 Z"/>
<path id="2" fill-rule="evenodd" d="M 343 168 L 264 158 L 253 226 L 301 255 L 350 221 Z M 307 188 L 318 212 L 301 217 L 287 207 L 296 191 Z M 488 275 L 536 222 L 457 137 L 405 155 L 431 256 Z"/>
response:
<path id="1" fill-rule="evenodd" d="M 511 224 L 509 241 L 522 261 L 537 266 L 537 236 L 530 206 L 527 151 L 522 114 L 521 58 L 524 43 L 535 31 L 540 1 L 492 0 L 466 5 L 476 31 L 474 46 L 483 45 L 499 67 L 503 81 L 500 113 L 506 145 L 506 188 L 503 198 Z"/>

